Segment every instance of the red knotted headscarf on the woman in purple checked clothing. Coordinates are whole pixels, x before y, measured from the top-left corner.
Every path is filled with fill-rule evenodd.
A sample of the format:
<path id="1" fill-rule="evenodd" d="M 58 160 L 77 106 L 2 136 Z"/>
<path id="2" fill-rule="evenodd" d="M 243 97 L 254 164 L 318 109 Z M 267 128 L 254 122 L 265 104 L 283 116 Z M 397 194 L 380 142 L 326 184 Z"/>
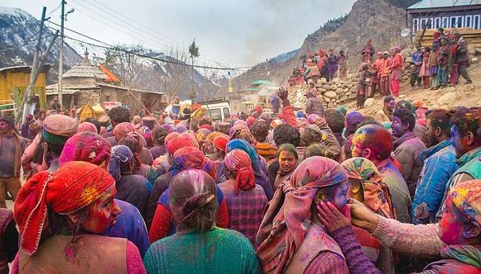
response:
<path id="1" fill-rule="evenodd" d="M 249 155 L 240 149 L 234 149 L 227 153 L 224 158 L 224 164 L 227 169 L 236 173 L 236 184 L 234 190 L 238 193 L 238 189 L 251 190 L 256 187 L 256 179 L 252 162 Z"/>

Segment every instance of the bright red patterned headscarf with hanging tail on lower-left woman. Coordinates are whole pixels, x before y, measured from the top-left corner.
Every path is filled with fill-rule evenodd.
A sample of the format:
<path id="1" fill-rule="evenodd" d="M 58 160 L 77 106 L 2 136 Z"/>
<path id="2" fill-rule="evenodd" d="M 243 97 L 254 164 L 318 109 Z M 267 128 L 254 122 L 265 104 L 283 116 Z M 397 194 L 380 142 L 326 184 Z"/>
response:
<path id="1" fill-rule="evenodd" d="M 114 187 L 115 181 L 105 169 L 88 162 L 69 162 L 53 174 L 37 173 L 15 199 L 14 217 L 22 235 L 20 249 L 30 256 L 37 251 L 49 208 L 58 214 L 71 214 Z"/>

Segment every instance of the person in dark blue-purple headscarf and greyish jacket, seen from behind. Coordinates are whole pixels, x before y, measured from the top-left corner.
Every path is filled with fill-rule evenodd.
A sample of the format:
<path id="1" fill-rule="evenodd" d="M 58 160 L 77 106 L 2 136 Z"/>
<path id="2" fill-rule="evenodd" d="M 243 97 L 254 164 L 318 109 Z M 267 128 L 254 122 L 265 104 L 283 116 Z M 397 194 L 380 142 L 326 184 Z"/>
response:
<path id="1" fill-rule="evenodd" d="M 125 145 L 112 147 L 109 173 L 117 186 L 115 198 L 133 204 L 143 214 L 152 186 L 146 178 L 133 174 L 134 164 L 131 149 Z"/>

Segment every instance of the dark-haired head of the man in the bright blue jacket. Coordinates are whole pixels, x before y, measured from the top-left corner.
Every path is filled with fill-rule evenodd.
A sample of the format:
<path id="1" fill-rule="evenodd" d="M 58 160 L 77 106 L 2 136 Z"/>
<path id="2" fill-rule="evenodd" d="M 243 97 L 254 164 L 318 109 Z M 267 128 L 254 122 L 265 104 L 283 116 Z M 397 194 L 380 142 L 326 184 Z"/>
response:
<path id="1" fill-rule="evenodd" d="M 433 110 L 426 118 L 427 145 L 432 147 L 451 138 L 451 116 L 449 110 Z"/>

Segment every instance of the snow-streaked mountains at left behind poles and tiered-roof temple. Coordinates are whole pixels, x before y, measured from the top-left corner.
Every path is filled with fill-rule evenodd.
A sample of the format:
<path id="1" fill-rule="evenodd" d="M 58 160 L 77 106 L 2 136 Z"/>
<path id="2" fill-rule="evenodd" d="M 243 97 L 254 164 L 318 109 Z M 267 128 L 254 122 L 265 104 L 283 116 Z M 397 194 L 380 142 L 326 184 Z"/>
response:
<path id="1" fill-rule="evenodd" d="M 31 14 L 19 8 L 0 6 L 0 67 L 32 64 L 39 29 L 40 21 Z M 45 27 L 42 50 L 46 49 L 53 35 L 54 32 Z M 60 39 L 57 38 L 51 53 L 47 56 L 47 62 L 54 64 L 54 68 L 50 70 L 47 84 L 54 84 L 58 79 L 59 42 Z M 85 51 L 81 45 L 75 44 L 72 46 L 65 42 L 64 71 L 77 65 L 82 60 L 83 51 Z M 78 52 L 76 49 L 78 49 Z M 90 48 L 89 51 L 94 63 L 106 61 L 104 49 Z M 142 53 L 154 58 L 180 62 L 164 53 L 150 51 L 149 49 L 143 49 Z M 115 66 L 115 60 L 107 66 L 122 79 L 122 69 Z M 219 85 L 204 77 L 197 70 L 192 71 L 190 66 L 179 66 L 148 59 L 139 59 L 139 66 L 142 66 L 142 71 L 137 76 L 139 80 L 133 84 L 133 88 L 161 90 L 166 95 L 175 90 L 181 99 L 189 99 L 192 89 L 195 92 L 196 99 L 219 96 Z"/>

